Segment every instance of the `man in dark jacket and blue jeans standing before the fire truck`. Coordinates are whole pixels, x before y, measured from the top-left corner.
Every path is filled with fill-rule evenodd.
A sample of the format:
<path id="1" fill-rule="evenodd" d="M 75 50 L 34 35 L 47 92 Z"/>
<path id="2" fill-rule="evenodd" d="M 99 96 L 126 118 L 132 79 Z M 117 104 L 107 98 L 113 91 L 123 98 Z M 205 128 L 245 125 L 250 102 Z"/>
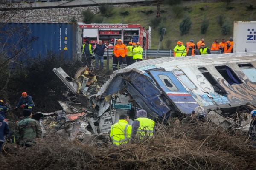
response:
<path id="1" fill-rule="evenodd" d="M 95 69 L 96 70 L 103 70 L 103 55 L 104 51 L 107 50 L 107 46 L 105 44 L 102 44 L 102 40 L 99 40 L 99 44 L 96 45 L 93 52 L 95 54 Z M 100 62 L 100 68 L 99 68 L 99 62 Z"/>

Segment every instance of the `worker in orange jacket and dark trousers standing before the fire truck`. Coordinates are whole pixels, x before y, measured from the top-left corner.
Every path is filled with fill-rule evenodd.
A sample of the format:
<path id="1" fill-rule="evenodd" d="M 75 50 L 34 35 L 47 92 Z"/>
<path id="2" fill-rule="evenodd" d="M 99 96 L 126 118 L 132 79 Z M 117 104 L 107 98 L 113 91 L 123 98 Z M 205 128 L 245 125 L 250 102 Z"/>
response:
<path id="1" fill-rule="evenodd" d="M 119 68 L 125 68 L 127 66 L 127 62 L 126 62 L 126 56 L 128 54 L 127 47 L 122 43 L 121 39 L 118 39 L 116 42 L 117 44 L 115 45 L 113 50 L 114 54 L 117 57 Z M 115 64 L 117 69 L 117 62 Z"/>

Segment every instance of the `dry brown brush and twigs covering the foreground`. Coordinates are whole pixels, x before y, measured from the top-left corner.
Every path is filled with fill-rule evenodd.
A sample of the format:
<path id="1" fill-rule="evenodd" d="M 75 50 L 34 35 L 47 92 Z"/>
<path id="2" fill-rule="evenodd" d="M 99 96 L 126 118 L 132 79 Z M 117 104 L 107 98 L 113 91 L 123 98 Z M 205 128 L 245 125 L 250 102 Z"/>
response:
<path id="1" fill-rule="evenodd" d="M 244 133 L 226 131 L 211 122 L 173 121 L 158 125 L 151 139 L 119 147 L 48 136 L 34 148 L 20 149 L 15 159 L 5 156 L 0 163 L 1 169 L 9 170 L 254 170 L 255 154 Z"/>

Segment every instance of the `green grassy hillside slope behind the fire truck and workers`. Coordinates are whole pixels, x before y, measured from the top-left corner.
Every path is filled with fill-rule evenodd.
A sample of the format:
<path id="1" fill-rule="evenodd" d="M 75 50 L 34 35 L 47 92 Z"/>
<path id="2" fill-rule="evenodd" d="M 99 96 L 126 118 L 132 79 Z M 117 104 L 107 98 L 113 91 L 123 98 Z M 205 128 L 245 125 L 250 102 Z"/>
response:
<path id="1" fill-rule="evenodd" d="M 170 6 L 161 4 L 161 18 L 156 18 L 156 4 L 150 6 L 138 6 L 132 7 L 121 6 L 111 9 L 113 16 L 106 17 L 103 23 L 123 23 L 123 24 L 141 24 L 148 29 L 148 26 L 152 27 L 151 49 L 157 49 L 159 43 L 159 27 L 164 26 L 166 28 L 166 34 L 163 42 L 161 43 L 161 49 L 173 49 L 177 41 L 184 43 L 193 39 L 194 42 L 198 42 L 201 38 L 204 38 L 206 46 L 210 47 L 213 40 L 222 38 L 228 40 L 233 37 L 233 21 L 249 21 L 256 20 L 256 10 L 247 11 L 247 6 L 254 4 L 253 0 L 233 1 L 231 3 L 224 2 L 212 2 L 201 3 L 201 1 L 185 1 L 177 6 Z M 177 10 L 180 11 L 177 12 Z M 176 9 L 176 12 L 173 10 Z M 201 9 L 200 9 L 201 8 Z M 227 8 L 230 8 L 229 10 Z M 153 11 L 151 14 L 145 14 L 145 12 Z M 129 14 L 123 16 L 120 12 L 128 11 Z M 98 14 L 99 15 L 99 14 Z M 192 25 L 189 34 L 180 35 L 179 25 L 183 20 L 183 17 L 188 15 L 191 19 Z M 218 25 L 219 16 L 223 16 L 224 22 L 228 22 L 231 26 L 230 34 L 222 35 L 221 26 Z M 206 18 L 209 20 L 209 27 L 206 34 L 201 34 L 201 23 Z M 158 26 L 154 26 L 151 20 L 161 20 Z"/>

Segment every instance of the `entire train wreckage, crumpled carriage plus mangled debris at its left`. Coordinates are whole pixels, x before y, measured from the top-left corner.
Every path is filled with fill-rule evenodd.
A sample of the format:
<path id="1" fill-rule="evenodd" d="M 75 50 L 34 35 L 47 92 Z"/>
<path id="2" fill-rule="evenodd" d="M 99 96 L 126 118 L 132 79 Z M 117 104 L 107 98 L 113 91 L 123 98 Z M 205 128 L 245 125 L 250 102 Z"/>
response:
<path id="1" fill-rule="evenodd" d="M 76 120 L 73 127 L 64 121 L 57 131 L 69 131 L 70 140 L 90 142 L 85 136 L 107 134 L 120 114 L 135 119 L 137 108 L 158 121 L 198 112 L 221 127 L 234 125 L 247 131 L 248 114 L 256 105 L 255 57 L 256 52 L 246 52 L 144 60 L 114 71 L 101 87 L 86 67 L 79 68 L 74 78 L 54 68 L 74 94 L 69 102 L 59 102 L 64 109 L 58 115 L 65 114 L 67 122 Z"/>

